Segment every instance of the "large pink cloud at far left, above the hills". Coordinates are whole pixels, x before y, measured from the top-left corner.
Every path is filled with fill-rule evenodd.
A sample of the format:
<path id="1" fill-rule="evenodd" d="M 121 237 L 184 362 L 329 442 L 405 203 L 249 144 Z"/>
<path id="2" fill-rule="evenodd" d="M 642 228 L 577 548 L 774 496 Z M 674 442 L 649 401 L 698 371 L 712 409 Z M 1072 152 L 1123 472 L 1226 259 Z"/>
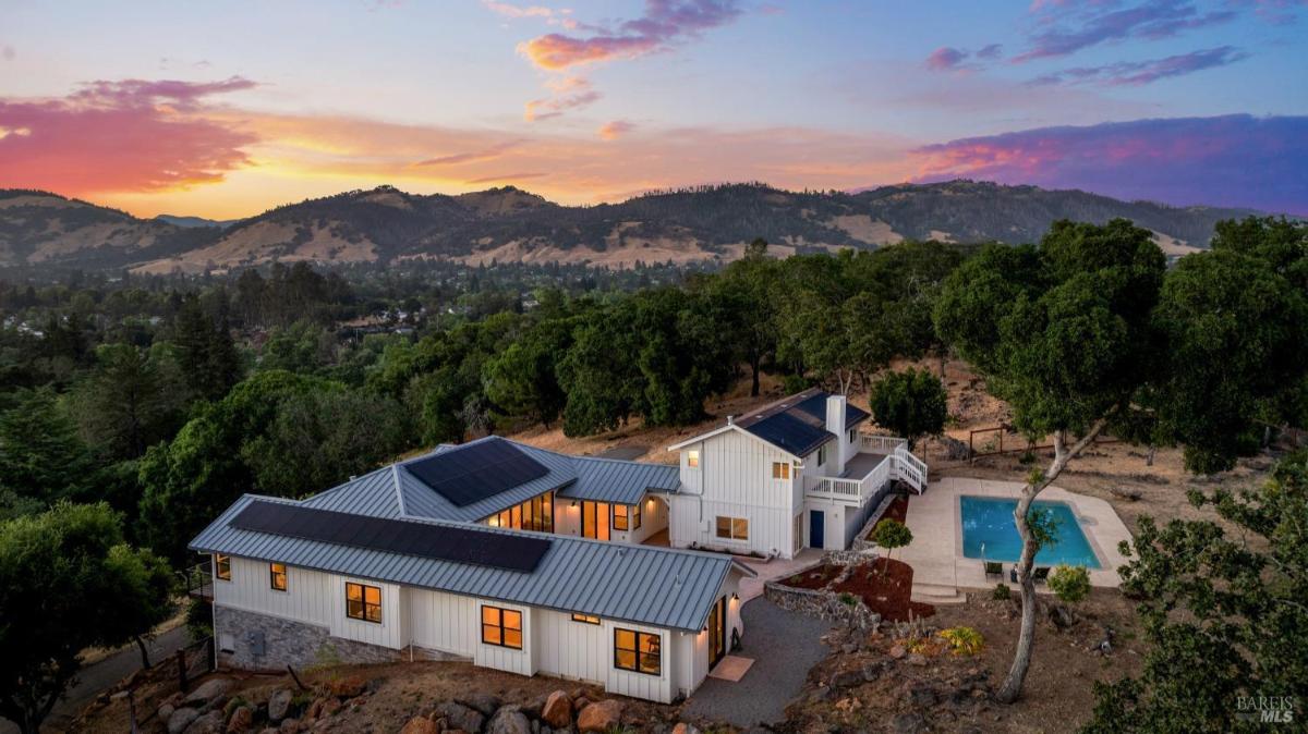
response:
<path id="1" fill-rule="evenodd" d="M 158 191 L 220 182 L 250 162 L 255 136 L 196 112 L 204 99 L 255 86 L 216 82 L 95 81 L 58 99 L 0 98 L 0 185 L 69 195 Z"/>

